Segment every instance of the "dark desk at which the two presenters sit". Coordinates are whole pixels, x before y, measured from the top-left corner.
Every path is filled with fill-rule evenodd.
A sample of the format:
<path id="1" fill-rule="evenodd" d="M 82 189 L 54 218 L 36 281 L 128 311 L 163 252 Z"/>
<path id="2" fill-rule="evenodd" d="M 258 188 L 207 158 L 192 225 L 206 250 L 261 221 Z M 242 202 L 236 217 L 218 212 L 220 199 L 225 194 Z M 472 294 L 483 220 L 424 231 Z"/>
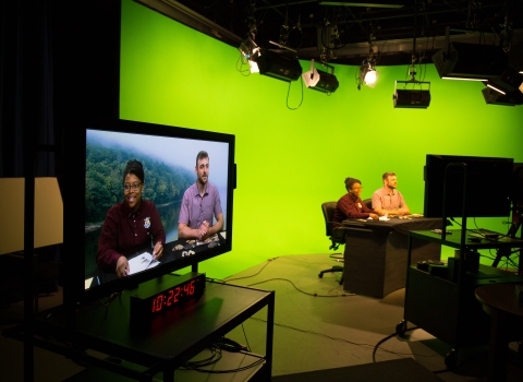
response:
<path id="1" fill-rule="evenodd" d="M 341 228 L 345 230 L 343 289 L 382 298 L 406 285 L 409 231 L 441 228 L 441 218 L 346 219 Z M 412 241 L 411 264 L 438 261 L 440 255 L 439 243 Z"/>

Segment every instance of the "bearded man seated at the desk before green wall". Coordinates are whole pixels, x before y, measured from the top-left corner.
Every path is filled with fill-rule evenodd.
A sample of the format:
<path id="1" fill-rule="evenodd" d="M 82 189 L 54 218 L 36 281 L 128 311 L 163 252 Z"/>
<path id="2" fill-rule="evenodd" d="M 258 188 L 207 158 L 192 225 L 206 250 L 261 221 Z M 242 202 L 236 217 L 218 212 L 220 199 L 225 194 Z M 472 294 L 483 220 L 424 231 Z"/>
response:
<path id="1" fill-rule="evenodd" d="M 400 191 L 396 189 L 398 179 L 394 172 L 385 172 L 384 187 L 373 193 L 373 208 L 380 216 L 409 215 L 411 211 Z"/>

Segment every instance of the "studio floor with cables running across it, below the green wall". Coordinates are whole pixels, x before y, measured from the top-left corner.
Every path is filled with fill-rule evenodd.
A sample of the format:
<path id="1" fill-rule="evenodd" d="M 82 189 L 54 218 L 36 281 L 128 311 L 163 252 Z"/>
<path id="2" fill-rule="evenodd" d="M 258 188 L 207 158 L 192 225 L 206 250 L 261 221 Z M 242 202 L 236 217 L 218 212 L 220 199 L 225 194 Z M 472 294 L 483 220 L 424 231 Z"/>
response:
<path id="1" fill-rule="evenodd" d="M 447 370 L 445 356 L 451 348 L 441 341 L 419 329 L 404 338 L 393 335 L 403 318 L 404 289 L 382 299 L 352 295 L 338 284 L 339 273 L 318 278 L 319 271 L 335 264 L 328 254 L 284 255 L 227 278 L 231 284 L 276 291 L 273 377 L 409 357 L 443 381 L 486 381 L 486 348 L 462 351 L 458 367 Z M 40 297 L 40 310 L 61 303 L 61 290 Z M 0 329 L 22 317 L 22 302 L 0 310 Z M 266 319 L 262 310 L 227 337 L 263 355 Z M 521 361 L 518 344 L 510 348 L 508 381 L 521 381 L 522 371 L 511 366 Z M 23 381 L 23 344 L 1 336 L 0 354 L 0 380 Z M 83 369 L 73 360 L 35 348 L 35 381 L 63 381 Z"/>

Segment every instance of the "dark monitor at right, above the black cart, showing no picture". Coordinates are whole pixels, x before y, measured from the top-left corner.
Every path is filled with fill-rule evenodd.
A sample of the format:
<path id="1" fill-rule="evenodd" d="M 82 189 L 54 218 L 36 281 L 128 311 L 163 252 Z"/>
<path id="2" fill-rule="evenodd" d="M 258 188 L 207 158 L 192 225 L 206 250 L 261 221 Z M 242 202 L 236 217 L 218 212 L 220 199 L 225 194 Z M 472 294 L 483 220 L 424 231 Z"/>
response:
<path id="1" fill-rule="evenodd" d="M 466 191 L 463 195 L 463 166 L 466 167 Z M 441 217 L 499 217 L 510 215 L 513 184 L 513 159 L 427 154 L 424 169 L 424 215 Z M 447 183 L 446 183 L 447 181 Z M 443 184 L 447 190 L 443 190 Z"/>

